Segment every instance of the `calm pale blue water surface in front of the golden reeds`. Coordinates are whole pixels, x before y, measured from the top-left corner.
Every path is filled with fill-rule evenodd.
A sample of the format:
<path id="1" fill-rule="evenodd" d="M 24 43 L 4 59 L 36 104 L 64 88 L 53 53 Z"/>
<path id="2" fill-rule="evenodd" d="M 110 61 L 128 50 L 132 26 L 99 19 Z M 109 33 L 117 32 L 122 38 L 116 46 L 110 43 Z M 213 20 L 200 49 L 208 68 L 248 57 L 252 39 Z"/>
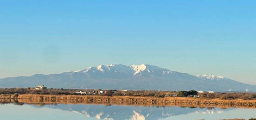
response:
<path id="1" fill-rule="evenodd" d="M 256 117 L 252 108 L 136 107 L 58 104 L 0 105 L 0 120 L 218 120 Z"/>

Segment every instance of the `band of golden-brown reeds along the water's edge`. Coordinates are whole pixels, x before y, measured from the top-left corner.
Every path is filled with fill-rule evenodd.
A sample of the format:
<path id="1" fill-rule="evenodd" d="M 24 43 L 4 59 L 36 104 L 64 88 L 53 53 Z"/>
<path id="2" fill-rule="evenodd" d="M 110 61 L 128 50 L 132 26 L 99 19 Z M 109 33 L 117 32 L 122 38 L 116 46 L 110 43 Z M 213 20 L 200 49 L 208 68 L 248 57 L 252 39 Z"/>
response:
<path id="1" fill-rule="evenodd" d="M 105 104 L 159 107 L 239 107 L 256 108 L 256 100 L 220 100 L 187 97 L 141 97 L 141 96 L 102 96 L 102 95 L 0 95 L 0 102 L 27 104 Z"/>

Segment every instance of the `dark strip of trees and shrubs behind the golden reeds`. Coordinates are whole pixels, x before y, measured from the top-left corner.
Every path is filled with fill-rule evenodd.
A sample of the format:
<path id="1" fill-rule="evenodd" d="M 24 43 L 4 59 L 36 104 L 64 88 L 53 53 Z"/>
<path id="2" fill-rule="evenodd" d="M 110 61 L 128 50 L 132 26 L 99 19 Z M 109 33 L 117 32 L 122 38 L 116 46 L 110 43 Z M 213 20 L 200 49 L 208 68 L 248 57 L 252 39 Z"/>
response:
<path id="1" fill-rule="evenodd" d="M 48 88 L 41 90 L 33 90 L 31 88 L 0 88 L 0 94 L 39 94 L 39 95 L 76 95 L 84 89 L 64 89 L 64 88 Z M 94 89 L 91 89 L 92 91 Z M 255 93 L 234 92 L 234 93 L 198 93 L 195 90 L 190 91 L 161 91 L 161 90 L 104 90 L 107 91 L 101 95 L 107 96 L 154 96 L 154 97 L 196 97 L 202 99 L 222 99 L 222 100 L 253 100 L 256 99 Z M 97 94 L 96 94 L 97 95 Z"/>

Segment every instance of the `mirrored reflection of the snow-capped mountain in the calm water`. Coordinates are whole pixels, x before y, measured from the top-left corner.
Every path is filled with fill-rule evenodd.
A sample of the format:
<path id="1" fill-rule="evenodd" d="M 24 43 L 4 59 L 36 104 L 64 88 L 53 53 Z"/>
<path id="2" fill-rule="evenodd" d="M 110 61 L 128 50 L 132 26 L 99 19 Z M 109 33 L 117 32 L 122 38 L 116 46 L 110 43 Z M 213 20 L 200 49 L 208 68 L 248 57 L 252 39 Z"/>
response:
<path id="1" fill-rule="evenodd" d="M 189 114 L 195 112 L 217 113 L 223 111 L 220 108 L 206 108 L 202 111 L 199 107 L 134 107 L 134 106 L 104 106 L 104 105 L 64 105 L 47 106 L 62 110 L 85 114 L 87 117 L 95 117 L 105 120 L 159 120 L 169 116 Z"/>

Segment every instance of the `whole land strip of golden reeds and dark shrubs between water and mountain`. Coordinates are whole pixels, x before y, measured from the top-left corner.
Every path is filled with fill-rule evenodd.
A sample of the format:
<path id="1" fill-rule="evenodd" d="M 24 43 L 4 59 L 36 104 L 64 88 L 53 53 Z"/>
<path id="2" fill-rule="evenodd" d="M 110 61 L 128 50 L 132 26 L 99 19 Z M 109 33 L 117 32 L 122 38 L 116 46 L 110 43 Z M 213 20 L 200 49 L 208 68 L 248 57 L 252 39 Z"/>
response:
<path id="1" fill-rule="evenodd" d="M 85 93 L 92 92 L 91 95 Z M 198 93 L 197 91 L 81 90 L 0 88 L 1 102 L 31 104 L 117 104 L 140 106 L 251 107 L 256 108 L 255 93 Z"/>

